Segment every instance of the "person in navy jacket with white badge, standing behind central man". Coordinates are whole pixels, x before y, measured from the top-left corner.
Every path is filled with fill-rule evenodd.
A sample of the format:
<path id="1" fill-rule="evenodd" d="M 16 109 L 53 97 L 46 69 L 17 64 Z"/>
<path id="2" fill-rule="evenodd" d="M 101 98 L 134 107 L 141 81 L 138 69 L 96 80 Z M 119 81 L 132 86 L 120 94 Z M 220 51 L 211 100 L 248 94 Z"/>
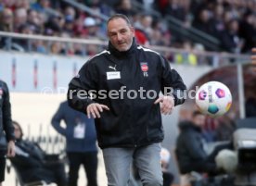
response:
<path id="1" fill-rule="evenodd" d="M 65 121 L 66 127 L 60 125 Z M 77 186 L 78 172 L 81 165 L 86 171 L 87 185 L 97 186 L 97 148 L 96 129 L 93 118 L 87 118 L 63 102 L 52 118 L 52 126 L 66 137 L 66 152 L 69 158 L 69 186 Z"/>

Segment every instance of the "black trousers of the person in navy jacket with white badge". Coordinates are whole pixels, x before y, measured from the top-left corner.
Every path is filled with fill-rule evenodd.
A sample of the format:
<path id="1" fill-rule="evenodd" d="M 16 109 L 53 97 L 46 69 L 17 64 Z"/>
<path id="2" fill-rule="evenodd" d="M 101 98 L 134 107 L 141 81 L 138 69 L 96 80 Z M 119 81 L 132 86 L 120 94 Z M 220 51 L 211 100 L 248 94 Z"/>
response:
<path id="1" fill-rule="evenodd" d="M 69 186 L 77 186 L 79 168 L 83 165 L 87 178 L 87 186 L 97 186 L 97 152 L 71 153 L 67 152 L 70 171 Z"/>

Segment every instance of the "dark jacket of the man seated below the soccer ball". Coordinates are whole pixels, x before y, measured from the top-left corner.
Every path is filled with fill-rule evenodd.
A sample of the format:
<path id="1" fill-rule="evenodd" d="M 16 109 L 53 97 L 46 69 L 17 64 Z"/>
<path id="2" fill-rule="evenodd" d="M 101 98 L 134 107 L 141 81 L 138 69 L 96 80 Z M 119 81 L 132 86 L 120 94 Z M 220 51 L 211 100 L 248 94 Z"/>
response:
<path id="1" fill-rule="evenodd" d="M 208 172 L 215 169 L 203 148 L 200 128 L 190 121 L 181 122 L 179 128 L 181 131 L 176 141 L 175 153 L 181 173 Z"/>

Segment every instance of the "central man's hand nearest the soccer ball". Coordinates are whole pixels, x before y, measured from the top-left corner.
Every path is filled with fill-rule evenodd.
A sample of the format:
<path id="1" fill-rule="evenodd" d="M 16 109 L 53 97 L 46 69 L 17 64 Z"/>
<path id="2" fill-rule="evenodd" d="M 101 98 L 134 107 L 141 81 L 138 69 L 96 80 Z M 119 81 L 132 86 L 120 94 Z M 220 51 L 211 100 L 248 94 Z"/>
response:
<path id="1" fill-rule="evenodd" d="M 160 112 L 164 115 L 170 115 L 173 112 L 174 108 L 174 98 L 173 96 L 161 96 L 155 101 L 154 104 L 160 104 Z"/>

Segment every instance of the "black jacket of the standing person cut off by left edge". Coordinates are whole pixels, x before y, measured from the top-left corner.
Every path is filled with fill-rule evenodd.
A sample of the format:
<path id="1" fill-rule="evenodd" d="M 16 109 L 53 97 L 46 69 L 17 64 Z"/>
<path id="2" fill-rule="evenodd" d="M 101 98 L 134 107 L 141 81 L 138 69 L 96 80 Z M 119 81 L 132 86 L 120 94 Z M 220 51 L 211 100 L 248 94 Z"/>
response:
<path id="1" fill-rule="evenodd" d="M 0 81 L 0 136 L 6 134 L 7 142 L 15 140 L 14 128 L 11 120 L 11 105 L 6 82 Z"/>

